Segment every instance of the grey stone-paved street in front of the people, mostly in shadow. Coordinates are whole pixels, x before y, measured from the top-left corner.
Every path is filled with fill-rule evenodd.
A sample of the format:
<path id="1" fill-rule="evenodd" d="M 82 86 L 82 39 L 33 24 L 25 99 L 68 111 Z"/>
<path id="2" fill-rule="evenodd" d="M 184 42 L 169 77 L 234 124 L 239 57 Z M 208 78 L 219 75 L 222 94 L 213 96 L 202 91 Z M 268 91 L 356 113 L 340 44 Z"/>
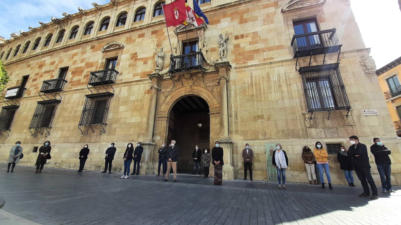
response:
<path id="1" fill-rule="evenodd" d="M 265 181 L 223 181 L 178 174 L 178 182 L 155 175 L 0 164 L 2 208 L 39 224 L 401 224 L 401 191 L 358 197 L 361 187 Z M 397 187 L 394 188 L 398 190 Z M 0 224 L 2 217 L 0 216 Z"/>

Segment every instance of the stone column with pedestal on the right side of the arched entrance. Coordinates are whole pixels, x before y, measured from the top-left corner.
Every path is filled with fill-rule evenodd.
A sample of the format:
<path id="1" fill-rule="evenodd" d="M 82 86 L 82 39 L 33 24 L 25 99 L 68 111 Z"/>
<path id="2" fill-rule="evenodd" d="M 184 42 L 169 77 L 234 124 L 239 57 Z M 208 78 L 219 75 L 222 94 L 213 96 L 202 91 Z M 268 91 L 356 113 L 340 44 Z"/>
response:
<path id="1" fill-rule="evenodd" d="M 221 62 L 216 63 L 215 66 L 219 70 L 219 82 L 221 91 L 221 121 L 222 121 L 222 133 L 219 138 L 220 147 L 224 149 L 224 165 L 223 165 L 223 179 L 232 180 L 235 178 L 234 167 L 233 167 L 233 141 L 231 140 L 229 133 L 229 112 L 228 112 L 228 87 L 230 63 Z"/>

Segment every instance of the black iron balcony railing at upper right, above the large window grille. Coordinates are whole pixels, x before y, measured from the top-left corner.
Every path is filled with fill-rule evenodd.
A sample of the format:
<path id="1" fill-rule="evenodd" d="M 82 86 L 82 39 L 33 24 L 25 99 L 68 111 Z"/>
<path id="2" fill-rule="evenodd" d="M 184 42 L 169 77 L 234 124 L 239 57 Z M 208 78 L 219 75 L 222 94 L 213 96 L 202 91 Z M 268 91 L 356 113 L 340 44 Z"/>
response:
<path id="1" fill-rule="evenodd" d="M 294 58 L 337 52 L 341 46 L 336 29 L 294 35 L 291 41 Z"/>

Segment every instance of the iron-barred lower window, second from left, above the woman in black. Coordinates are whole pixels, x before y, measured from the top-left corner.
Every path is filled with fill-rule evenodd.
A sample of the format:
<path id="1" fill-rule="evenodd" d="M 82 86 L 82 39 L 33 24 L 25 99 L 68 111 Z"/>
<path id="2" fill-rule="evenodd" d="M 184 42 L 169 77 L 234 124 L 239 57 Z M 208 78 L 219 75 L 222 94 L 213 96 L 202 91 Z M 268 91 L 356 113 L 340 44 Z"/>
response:
<path id="1" fill-rule="evenodd" d="M 38 102 L 29 128 L 50 128 L 57 104 L 60 102 L 60 100 L 46 100 Z"/>

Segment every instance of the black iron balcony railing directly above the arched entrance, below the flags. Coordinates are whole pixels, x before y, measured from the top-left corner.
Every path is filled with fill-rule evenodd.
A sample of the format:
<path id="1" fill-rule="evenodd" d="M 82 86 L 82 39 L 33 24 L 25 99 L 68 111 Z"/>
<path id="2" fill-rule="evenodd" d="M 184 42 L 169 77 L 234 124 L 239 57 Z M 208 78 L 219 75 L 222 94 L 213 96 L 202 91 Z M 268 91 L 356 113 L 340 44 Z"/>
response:
<path id="1" fill-rule="evenodd" d="M 170 57 L 170 72 L 180 73 L 184 71 L 191 71 L 194 69 L 203 68 L 203 57 L 202 52 L 192 52 L 185 55 L 171 56 Z"/>

